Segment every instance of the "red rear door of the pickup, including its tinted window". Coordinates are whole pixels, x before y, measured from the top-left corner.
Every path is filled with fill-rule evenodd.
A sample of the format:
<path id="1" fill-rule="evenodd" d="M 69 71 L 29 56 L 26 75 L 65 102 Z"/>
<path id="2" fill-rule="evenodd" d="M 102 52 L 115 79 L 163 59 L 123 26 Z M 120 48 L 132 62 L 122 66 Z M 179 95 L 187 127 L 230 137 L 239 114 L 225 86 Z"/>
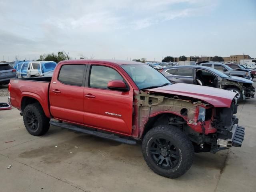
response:
<path id="1" fill-rule="evenodd" d="M 54 118 L 83 124 L 86 64 L 64 64 L 50 86 L 50 110 Z"/>

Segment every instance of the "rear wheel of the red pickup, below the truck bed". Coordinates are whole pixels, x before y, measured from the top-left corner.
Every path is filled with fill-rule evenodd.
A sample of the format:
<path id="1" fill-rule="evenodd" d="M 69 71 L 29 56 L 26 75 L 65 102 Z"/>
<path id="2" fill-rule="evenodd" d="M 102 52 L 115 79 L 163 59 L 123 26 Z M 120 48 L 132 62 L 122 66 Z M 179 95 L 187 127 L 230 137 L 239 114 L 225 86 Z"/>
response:
<path id="1" fill-rule="evenodd" d="M 25 107 L 23 121 L 26 130 L 34 136 L 46 134 L 50 128 L 50 119 L 45 116 L 44 110 L 38 103 L 29 104 Z"/>

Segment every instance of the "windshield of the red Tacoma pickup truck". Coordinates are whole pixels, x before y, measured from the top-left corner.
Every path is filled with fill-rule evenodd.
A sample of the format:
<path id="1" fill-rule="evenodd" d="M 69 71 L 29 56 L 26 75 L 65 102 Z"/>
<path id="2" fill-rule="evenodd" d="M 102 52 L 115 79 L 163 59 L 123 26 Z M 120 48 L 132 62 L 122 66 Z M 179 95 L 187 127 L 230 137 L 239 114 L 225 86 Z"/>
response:
<path id="1" fill-rule="evenodd" d="M 160 72 L 146 64 L 121 65 L 139 89 L 171 84 Z"/>

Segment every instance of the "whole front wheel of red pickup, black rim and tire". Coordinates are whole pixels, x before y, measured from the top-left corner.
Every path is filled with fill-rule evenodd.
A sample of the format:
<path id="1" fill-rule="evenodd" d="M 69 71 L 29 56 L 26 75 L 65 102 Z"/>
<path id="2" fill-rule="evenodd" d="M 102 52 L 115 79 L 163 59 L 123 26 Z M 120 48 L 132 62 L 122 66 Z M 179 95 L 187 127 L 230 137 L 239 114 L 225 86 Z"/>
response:
<path id="1" fill-rule="evenodd" d="M 194 148 L 188 136 L 170 125 L 149 130 L 142 141 L 142 153 L 150 169 L 167 178 L 185 174 L 194 159 Z"/>

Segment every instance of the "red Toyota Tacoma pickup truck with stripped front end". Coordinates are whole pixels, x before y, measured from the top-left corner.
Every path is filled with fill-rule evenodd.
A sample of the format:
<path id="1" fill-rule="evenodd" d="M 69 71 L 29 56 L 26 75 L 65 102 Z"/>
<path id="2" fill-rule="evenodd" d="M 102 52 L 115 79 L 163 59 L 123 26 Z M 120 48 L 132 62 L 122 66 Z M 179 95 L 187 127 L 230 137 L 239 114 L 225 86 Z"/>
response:
<path id="1" fill-rule="evenodd" d="M 184 174 L 194 152 L 241 147 L 244 140 L 235 93 L 171 84 L 140 62 L 62 61 L 52 77 L 12 79 L 9 91 L 30 134 L 43 135 L 52 124 L 141 144 L 148 166 L 168 178 Z"/>

